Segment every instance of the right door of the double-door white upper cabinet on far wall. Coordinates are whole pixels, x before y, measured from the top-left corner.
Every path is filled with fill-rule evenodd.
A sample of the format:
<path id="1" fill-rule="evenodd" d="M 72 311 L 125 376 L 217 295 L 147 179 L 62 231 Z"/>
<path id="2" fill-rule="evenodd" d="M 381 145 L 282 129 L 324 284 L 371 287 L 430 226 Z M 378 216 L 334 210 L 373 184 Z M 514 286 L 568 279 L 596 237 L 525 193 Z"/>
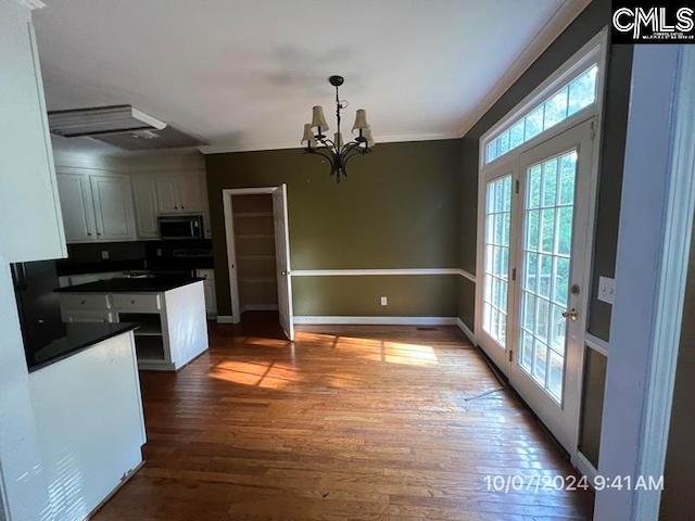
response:
<path id="1" fill-rule="evenodd" d="M 136 238 L 130 179 L 91 176 L 91 194 L 97 219 L 97 239 L 128 241 Z"/>

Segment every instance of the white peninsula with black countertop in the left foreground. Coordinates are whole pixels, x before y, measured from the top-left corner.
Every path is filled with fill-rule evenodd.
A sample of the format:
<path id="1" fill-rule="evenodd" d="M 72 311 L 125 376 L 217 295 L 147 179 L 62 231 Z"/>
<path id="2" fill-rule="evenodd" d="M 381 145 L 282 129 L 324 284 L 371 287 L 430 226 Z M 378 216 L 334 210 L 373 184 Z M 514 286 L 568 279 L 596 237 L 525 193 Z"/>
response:
<path id="1" fill-rule="evenodd" d="M 137 328 L 46 322 L 25 334 L 51 519 L 86 519 L 142 465 Z"/>

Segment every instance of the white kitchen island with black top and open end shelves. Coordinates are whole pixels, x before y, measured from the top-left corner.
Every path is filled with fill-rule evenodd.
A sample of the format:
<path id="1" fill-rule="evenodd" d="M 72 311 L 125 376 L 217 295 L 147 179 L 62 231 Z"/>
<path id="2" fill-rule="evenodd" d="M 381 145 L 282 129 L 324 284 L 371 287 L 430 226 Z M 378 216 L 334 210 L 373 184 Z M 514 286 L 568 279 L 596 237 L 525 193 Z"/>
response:
<path id="1" fill-rule="evenodd" d="M 177 371 L 207 351 L 203 279 L 116 278 L 56 290 L 65 322 L 138 322 L 138 367 Z"/>

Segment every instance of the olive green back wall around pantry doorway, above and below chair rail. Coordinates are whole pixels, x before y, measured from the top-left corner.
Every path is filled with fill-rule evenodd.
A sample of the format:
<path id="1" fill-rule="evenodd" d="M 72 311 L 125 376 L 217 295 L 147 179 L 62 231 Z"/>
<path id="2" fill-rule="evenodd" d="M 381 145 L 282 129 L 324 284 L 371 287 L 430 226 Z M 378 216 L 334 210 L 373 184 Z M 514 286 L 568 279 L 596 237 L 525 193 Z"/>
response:
<path id="1" fill-rule="evenodd" d="M 292 269 L 455 268 L 458 262 L 458 140 L 378 143 L 337 185 L 301 150 L 207 155 L 215 280 L 230 315 L 222 191 L 288 186 Z M 450 276 L 294 277 L 296 315 L 457 314 Z M 379 296 L 389 297 L 382 307 Z"/>

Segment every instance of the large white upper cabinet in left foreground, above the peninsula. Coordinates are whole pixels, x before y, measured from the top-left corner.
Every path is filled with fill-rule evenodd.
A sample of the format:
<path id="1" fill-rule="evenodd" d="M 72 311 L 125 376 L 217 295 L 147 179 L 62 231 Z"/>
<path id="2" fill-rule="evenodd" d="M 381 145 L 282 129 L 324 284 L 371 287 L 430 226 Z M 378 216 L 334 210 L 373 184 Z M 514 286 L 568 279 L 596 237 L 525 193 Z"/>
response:
<path id="1" fill-rule="evenodd" d="M 66 256 L 31 13 L 0 1 L 0 255 Z"/>

